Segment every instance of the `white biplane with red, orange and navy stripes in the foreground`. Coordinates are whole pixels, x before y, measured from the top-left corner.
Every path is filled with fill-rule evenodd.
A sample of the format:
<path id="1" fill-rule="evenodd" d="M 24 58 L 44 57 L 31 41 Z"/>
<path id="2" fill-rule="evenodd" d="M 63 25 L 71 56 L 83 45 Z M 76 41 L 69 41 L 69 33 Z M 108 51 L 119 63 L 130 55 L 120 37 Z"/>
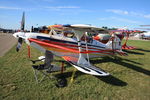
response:
<path id="1" fill-rule="evenodd" d="M 24 15 L 23 15 L 24 16 Z M 59 56 L 79 71 L 96 75 L 108 76 L 109 73 L 90 63 L 90 58 L 127 54 L 122 51 L 121 40 L 115 34 L 107 43 L 93 39 L 93 34 L 105 29 L 85 24 L 50 25 L 43 32 L 24 32 L 24 17 L 22 31 L 13 34 L 18 38 L 16 50 L 19 51 L 23 40 L 29 46 L 45 52 L 49 67 L 53 56 Z M 30 51 L 29 51 L 30 52 Z M 30 53 L 28 53 L 30 56 Z M 49 56 L 49 57 L 48 57 Z"/>

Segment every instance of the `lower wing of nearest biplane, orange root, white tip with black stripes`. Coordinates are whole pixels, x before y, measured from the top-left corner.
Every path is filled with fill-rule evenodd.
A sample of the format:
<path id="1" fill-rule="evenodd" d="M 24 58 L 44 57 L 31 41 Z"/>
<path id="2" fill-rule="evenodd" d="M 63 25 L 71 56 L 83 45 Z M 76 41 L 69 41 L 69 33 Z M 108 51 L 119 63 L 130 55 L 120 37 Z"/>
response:
<path id="1" fill-rule="evenodd" d="M 62 58 L 83 73 L 96 75 L 96 76 L 109 75 L 109 73 L 105 72 L 104 70 L 89 64 L 89 62 L 87 62 L 85 58 L 81 58 L 83 63 L 80 63 L 79 59 L 76 57 L 63 56 Z"/>

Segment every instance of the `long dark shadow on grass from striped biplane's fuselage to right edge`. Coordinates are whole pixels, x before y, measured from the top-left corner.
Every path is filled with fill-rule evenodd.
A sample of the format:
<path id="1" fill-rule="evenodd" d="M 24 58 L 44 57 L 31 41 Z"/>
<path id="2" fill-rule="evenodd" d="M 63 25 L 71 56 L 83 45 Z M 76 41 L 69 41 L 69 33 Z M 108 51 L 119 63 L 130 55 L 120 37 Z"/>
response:
<path id="1" fill-rule="evenodd" d="M 146 69 L 141 68 L 141 67 L 139 67 L 137 65 L 130 64 L 130 63 L 127 63 L 127 62 L 124 62 L 124 61 L 142 65 L 142 64 L 140 64 L 138 62 L 135 62 L 135 61 L 132 61 L 132 60 L 128 60 L 128 59 L 123 59 L 123 58 L 120 58 L 120 57 L 117 57 L 117 59 L 110 58 L 110 57 L 104 57 L 103 59 L 99 59 L 98 61 L 92 60 L 91 63 L 96 64 L 96 63 L 104 63 L 104 62 L 113 62 L 113 63 L 119 64 L 119 65 L 122 65 L 123 67 L 127 67 L 127 68 L 130 68 L 130 69 L 135 70 L 137 72 L 140 72 L 140 73 L 143 73 L 145 75 L 149 75 L 150 76 L 150 71 L 149 70 L 146 70 Z"/>

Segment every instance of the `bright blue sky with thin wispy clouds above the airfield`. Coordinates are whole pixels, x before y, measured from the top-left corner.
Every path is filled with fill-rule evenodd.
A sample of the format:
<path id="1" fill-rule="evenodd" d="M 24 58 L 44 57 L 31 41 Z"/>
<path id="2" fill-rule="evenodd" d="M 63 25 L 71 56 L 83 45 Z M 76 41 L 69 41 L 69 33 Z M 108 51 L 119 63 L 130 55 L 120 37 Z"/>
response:
<path id="1" fill-rule="evenodd" d="M 150 0 L 0 0 L 0 27 L 26 29 L 53 24 L 139 28 L 150 25 Z"/>

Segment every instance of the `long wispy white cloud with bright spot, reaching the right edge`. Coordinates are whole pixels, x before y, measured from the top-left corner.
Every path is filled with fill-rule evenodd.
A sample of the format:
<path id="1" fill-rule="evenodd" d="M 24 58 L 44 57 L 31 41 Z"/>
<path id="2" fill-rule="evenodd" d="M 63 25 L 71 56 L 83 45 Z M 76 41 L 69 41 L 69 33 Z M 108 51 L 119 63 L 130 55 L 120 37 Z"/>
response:
<path id="1" fill-rule="evenodd" d="M 150 14 L 143 14 L 143 13 L 138 13 L 138 12 L 134 12 L 134 11 L 126 11 L 126 10 L 120 10 L 120 9 L 107 9 L 105 11 L 115 13 L 115 14 L 120 14 L 120 15 L 129 15 L 129 16 L 150 18 Z"/>

